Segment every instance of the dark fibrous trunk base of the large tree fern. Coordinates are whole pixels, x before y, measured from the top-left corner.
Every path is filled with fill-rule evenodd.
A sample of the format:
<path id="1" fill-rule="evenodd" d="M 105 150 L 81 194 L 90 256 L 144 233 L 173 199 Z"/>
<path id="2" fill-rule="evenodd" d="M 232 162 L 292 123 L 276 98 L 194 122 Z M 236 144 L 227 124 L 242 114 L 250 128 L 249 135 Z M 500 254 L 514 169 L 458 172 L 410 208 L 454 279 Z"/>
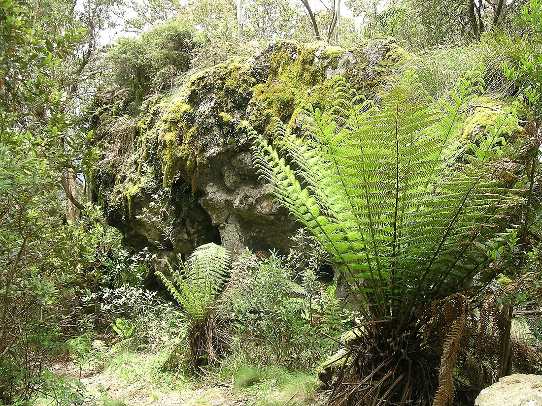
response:
<path id="1" fill-rule="evenodd" d="M 410 330 L 410 331 L 409 331 Z M 357 330 L 328 404 L 331 406 L 430 405 L 438 384 L 438 357 L 412 326 L 391 322 Z"/>

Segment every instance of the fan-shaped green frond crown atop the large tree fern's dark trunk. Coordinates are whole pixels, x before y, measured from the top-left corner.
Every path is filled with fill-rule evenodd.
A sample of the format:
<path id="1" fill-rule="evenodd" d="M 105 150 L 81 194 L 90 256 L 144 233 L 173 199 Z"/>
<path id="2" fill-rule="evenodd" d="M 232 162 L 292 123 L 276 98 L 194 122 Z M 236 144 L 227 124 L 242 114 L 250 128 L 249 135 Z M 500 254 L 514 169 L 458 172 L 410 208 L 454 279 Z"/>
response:
<path id="1" fill-rule="evenodd" d="M 488 259 L 477 247 L 519 202 L 492 164 L 504 127 L 477 143 L 460 137 L 479 77 L 457 88 L 435 101 L 406 76 L 372 102 L 342 84 L 331 114 L 303 104 L 303 137 L 276 121 L 274 146 L 254 138 L 260 177 L 330 253 L 366 316 L 466 287 Z"/>

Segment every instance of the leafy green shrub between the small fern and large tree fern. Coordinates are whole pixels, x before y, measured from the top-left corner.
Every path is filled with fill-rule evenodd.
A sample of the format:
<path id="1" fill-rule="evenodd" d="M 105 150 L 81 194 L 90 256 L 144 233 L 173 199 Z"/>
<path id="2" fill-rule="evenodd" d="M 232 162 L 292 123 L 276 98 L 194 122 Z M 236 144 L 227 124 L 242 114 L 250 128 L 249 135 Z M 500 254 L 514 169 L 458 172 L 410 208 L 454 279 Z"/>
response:
<path id="1" fill-rule="evenodd" d="M 235 314 L 234 352 L 253 364 L 311 369 L 333 347 L 323 333 L 336 337 L 345 326 L 335 285 L 322 285 L 319 269 L 311 268 L 319 251 L 306 252 L 302 260 L 295 252 L 261 258 L 247 251 L 233 266 L 225 306 Z"/>

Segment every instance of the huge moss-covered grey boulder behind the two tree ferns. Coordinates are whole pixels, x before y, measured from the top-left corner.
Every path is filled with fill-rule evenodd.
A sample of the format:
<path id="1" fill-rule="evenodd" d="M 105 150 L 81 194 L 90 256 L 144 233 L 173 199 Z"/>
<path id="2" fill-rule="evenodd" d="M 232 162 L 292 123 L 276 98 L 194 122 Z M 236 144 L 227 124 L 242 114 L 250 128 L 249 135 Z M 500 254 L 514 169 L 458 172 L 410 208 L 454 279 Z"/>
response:
<path id="1" fill-rule="evenodd" d="M 337 75 L 371 94 L 409 58 L 391 37 L 349 50 L 278 41 L 193 75 L 175 95 L 138 104 L 127 91 L 102 94 L 91 112 L 102 152 L 93 200 L 127 245 L 161 256 L 210 241 L 234 255 L 246 246 L 286 250 L 299 225 L 254 172 L 251 129 L 272 139 L 276 116 L 300 131 L 296 97 L 331 107 Z"/>

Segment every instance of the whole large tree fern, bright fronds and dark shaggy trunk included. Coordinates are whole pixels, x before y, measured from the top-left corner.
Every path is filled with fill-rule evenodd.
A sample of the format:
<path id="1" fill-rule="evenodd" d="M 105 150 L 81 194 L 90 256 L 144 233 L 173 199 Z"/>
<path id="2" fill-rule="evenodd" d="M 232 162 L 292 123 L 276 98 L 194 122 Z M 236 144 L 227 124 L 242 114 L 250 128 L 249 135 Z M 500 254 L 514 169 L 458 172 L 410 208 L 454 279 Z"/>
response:
<path id="1" fill-rule="evenodd" d="M 358 384 L 335 388 L 340 404 L 451 404 L 466 318 L 456 293 L 473 289 L 489 239 L 521 201 L 500 162 L 504 127 L 480 143 L 460 137 L 478 82 L 462 81 L 451 101 L 411 75 L 376 101 L 340 86 L 331 114 L 301 102 L 304 136 L 280 121 L 273 146 L 255 135 L 257 171 L 331 254 L 364 317 L 349 359 Z M 439 377 L 423 309 L 447 297 Z"/>

